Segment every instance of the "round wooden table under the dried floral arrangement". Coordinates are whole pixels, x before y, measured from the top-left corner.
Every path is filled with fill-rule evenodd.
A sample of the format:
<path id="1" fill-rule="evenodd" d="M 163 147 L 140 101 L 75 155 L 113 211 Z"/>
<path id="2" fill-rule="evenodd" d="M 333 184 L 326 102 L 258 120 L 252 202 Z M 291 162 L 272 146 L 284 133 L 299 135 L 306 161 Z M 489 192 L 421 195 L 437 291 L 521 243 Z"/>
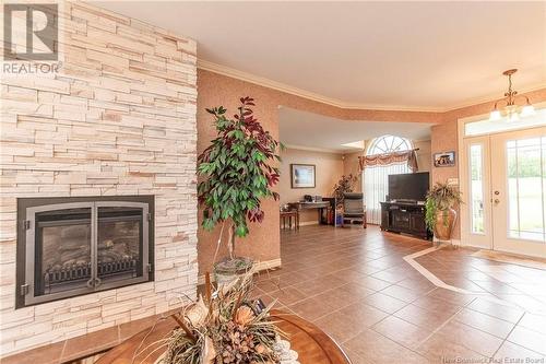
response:
<path id="1" fill-rule="evenodd" d="M 351 364 L 335 341 L 311 322 L 280 310 L 273 310 L 272 317 L 278 322 L 278 328 L 287 333 L 301 364 Z M 153 364 L 165 351 L 158 349 L 156 341 L 168 337 L 176 327 L 173 318 L 161 319 L 112 348 L 95 364 Z"/>

